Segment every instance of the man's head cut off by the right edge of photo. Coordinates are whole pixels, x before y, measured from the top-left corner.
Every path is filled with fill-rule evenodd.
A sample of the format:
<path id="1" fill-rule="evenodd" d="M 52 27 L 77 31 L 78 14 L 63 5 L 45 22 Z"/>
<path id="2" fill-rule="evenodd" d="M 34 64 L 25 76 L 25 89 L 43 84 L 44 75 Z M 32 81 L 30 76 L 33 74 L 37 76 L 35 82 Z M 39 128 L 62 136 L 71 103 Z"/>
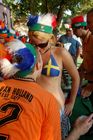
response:
<path id="1" fill-rule="evenodd" d="M 93 34 L 93 8 L 87 13 L 87 26 Z"/>

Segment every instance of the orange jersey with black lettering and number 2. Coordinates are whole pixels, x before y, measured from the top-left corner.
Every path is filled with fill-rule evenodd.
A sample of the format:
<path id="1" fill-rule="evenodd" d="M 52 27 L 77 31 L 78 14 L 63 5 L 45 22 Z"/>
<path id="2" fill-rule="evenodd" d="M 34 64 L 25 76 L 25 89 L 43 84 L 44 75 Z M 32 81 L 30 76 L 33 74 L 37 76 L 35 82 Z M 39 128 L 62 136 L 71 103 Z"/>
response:
<path id="1" fill-rule="evenodd" d="M 35 82 L 1 82 L 0 140 L 61 140 L 58 110 L 55 98 Z"/>

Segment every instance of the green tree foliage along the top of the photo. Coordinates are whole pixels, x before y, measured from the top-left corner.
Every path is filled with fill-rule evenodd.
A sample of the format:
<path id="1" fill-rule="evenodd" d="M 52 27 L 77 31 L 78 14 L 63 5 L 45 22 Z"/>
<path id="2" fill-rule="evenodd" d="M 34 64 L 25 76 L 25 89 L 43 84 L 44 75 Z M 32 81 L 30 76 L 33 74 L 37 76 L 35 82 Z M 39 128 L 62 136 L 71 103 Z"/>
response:
<path id="1" fill-rule="evenodd" d="M 72 16 L 85 14 L 93 7 L 93 0 L 3 0 L 11 8 L 15 19 L 26 18 L 30 13 L 54 13 L 57 15 L 58 25 L 64 17 L 64 11 L 70 9 Z"/>

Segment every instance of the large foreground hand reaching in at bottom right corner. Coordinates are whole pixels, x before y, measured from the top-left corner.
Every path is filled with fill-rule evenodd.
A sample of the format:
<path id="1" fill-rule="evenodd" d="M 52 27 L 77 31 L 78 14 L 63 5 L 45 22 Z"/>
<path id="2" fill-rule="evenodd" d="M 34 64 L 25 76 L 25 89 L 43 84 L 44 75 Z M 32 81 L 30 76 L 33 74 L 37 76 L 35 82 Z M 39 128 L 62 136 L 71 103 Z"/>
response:
<path id="1" fill-rule="evenodd" d="M 90 116 L 81 116 L 75 121 L 74 130 L 79 136 L 81 136 L 87 133 L 92 125 L 93 114 L 91 114 Z"/>

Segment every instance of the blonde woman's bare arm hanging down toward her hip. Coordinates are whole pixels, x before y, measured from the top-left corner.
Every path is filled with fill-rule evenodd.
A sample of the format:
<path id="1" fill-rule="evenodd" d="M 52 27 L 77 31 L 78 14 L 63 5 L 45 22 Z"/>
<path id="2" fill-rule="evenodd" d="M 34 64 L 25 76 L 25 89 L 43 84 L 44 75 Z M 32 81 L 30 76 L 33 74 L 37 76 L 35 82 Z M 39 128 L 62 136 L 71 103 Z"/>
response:
<path id="1" fill-rule="evenodd" d="M 79 87 L 80 78 L 71 55 L 64 48 L 62 48 L 62 61 L 63 61 L 64 68 L 68 71 L 69 75 L 72 78 L 71 96 L 70 96 L 69 103 L 70 106 L 72 106 L 73 108 L 78 87 Z M 68 108 L 70 109 L 70 107 Z"/>

